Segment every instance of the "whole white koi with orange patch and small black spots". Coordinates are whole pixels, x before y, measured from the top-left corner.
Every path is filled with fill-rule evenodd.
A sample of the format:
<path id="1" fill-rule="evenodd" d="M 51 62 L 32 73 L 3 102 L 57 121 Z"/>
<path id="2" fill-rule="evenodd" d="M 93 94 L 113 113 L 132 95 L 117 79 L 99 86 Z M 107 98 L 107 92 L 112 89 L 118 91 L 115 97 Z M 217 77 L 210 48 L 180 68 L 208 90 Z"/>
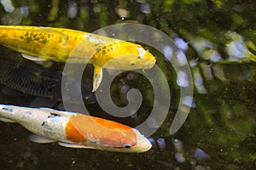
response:
<path id="1" fill-rule="evenodd" d="M 57 141 L 61 146 L 70 148 L 135 153 L 152 147 L 135 128 L 79 113 L 0 105 L 0 120 L 20 123 L 34 133 L 29 139 L 41 144 Z"/>

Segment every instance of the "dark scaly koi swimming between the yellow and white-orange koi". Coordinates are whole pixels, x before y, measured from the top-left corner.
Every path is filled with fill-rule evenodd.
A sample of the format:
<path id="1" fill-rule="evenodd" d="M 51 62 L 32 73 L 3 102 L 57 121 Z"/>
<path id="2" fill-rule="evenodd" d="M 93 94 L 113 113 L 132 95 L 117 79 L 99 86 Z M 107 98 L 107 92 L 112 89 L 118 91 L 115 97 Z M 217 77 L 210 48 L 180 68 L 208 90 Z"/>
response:
<path id="1" fill-rule="evenodd" d="M 0 59 L 0 83 L 23 94 L 61 101 L 61 71 L 49 71 L 38 67 L 18 65 Z M 85 104 L 96 103 L 87 84 L 67 77 L 68 83 L 81 84 L 81 94 Z M 77 99 L 76 94 L 70 99 Z"/>

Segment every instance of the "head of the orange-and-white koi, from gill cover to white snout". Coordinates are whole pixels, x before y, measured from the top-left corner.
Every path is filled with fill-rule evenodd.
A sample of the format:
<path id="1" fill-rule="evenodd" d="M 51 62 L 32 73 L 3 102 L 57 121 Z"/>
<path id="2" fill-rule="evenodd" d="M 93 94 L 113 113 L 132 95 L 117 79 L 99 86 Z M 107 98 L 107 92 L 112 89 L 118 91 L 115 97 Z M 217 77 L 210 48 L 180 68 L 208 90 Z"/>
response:
<path id="1" fill-rule="evenodd" d="M 119 122 L 93 118 L 96 132 L 88 138 L 99 150 L 141 153 L 151 149 L 152 144 L 137 129 Z M 93 138 L 93 136 L 97 138 Z"/>

